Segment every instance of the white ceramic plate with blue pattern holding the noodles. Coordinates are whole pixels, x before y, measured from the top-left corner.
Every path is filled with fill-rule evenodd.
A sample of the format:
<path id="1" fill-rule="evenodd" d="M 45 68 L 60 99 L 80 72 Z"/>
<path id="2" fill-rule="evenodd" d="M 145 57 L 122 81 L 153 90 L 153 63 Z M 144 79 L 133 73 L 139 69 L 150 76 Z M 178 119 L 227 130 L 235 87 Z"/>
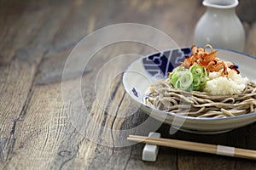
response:
<path id="1" fill-rule="evenodd" d="M 190 48 L 176 48 L 137 59 L 126 69 L 123 76 L 126 93 L 149 116 L 186 132 L 223 133 L 256 122 L 256 112 L 224 118 L 198 118 L 166 113 L 143 104 L 143 95 L 150 84 L 166 78 L 167 72 L 180 65 L 180 62 L 190 54 Z M 238 65 L 242 77 L 256 82 L 256 57 L 230 49 L 218 48 L 218 58 Z"/>

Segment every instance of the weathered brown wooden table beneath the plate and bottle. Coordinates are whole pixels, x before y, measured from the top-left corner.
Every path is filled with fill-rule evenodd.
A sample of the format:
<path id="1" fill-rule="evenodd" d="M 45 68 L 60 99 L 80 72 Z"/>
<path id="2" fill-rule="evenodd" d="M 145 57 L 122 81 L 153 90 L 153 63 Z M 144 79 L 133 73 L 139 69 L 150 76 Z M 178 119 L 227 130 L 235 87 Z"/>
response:
<path id="1" fill-rule="evenodd" d="M 243 0 L 236 10 L 246 30 L 245 52 L 251 55 L 256 55 L 255 8 L 255 1 Z M 255 169 L 255 161 L 165 147 L 160 148 L 157 161 L 146 162 L 142 161 L 144 144 L 115 147 L 126 136 L 113 130 L 137 127 L 148 116 L 140 110 L 131 114 L 133 104 L 125 94 L 121 75 L 111 80 L 111 88 L 106 90 L 110 95 L 102 96 L 103 105 L 99 105 L 94 90 L 96 73 L 121 54 L 154 52 L 143 44 L 113 43 L 90 59 L 82 73 L 81 94 L 88 111 L 84 114 L 96 123 L 81 120 L 86 135 L 72 122 L 80 111 L 73 106 L 79 94 L 70 96 L 70 103 L 62 96 L 61 84 L 72 87 L 78 81 L 74 71 L 67 71 L 69 79 L 62 80 L 64 65 L 86 35 L 104 26 L 140 23 L 166 32 L 181 47 L 190 46 L 195 23 L 204 10 L 199 0 L 0 1 L 0 168 Z M 108 77 L 103 80 L 109 81 Z M 168 130 L 165 124 L 157 129 L 165 138 L 256 150 L 256 123 L 215 135 L 170 135 Z M 88 135 L 93 139 L 86 138 Z"/>

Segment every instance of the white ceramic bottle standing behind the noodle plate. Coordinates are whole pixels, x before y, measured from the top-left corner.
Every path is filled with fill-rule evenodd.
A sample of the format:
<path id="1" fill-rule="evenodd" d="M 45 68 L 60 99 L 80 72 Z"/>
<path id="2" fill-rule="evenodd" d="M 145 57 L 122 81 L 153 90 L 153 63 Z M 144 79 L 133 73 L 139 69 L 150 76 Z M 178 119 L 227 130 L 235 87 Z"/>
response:
<path id="1" fill-rule="evenodd" d="M 210 43 L 214 48 L 242 51 L 245 31 L 236 15 L 238 3 L 238 0 L 204 0 L 202 4 L 207 10 L 195 26 L 195 45 Z"/>

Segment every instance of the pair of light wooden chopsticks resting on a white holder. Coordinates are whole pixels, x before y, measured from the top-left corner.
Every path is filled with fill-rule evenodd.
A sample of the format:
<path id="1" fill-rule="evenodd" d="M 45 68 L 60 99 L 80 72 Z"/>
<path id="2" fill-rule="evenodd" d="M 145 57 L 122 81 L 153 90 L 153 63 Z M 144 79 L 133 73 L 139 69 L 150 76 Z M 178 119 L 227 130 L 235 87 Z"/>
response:
<path id="1" fill-rule="evenodd" d="M 177 148 L 181 150 L 193 150 L 222 156 L 235 156 L 256 160 L 256 150 L 245 150 L 224 145 L 202 144 L 177 139 L 149 138 L 137 135 L 129 135 L 127 139 L 144 144 L 155 144 L 160 146 Z"/>

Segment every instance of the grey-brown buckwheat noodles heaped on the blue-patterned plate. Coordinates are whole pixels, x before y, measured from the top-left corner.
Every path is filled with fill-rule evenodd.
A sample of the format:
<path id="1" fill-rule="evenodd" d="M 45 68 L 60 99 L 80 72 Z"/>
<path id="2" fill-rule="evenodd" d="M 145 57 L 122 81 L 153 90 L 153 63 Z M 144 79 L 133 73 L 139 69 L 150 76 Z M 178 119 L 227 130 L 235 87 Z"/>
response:
<path id="1" fill-rule="evenodd" d="M 160 111 L 194 117 L 238 116 L 256 111 L 256 84 L 248 82 L 242 94 L 212 95 L 172 88 L 162 80 L 148 88 L 143 102 Z"/>

